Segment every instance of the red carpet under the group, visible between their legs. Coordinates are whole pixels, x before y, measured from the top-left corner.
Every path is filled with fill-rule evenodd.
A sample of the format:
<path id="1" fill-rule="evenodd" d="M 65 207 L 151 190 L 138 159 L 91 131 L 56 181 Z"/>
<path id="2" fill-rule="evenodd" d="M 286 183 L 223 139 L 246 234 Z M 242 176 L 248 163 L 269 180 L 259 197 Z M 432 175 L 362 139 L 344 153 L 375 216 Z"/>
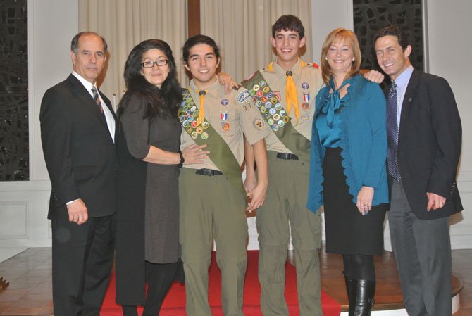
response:
<path id="1" fill-rule="evenodd" d="M 257 279 L 257 258 L 259 251 L 247 252 L 247 272 L 244 283 L 244 313 L 246 316 L 262 316 L 259 305 L 261 296 L 261 286 Z M 211 258 L 209 270 L 209 302 L 213 316 L 223 316 L 221 309 L 221 274 L 216 265 L 215 253 Z M 289 308 L 290 316 L 298 316 L 298 298 L 297 298 L 297 274 L 295 268 L 286 265 L 285 298 Z M 340 305 L 328 294 L 322 291 L 321 305 L 324 316 L 339 316 Z M 142 308 L 139 309 L 141 315 Z M 104 305 L 101 308 L 101 316 L 121 316 L 121 307 L 115 303 L 115 274 L 111 277 L 108 291 L 106 292 Z M 174 283 L 163 303 L 160 316 L 185 316 L 185 286 Z"/>

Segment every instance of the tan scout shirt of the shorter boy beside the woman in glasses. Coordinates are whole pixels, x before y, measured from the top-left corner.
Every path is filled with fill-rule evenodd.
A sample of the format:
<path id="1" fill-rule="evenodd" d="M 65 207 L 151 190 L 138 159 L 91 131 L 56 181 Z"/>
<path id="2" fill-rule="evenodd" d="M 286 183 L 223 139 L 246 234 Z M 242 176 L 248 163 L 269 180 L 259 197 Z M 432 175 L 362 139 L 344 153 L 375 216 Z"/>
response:
<path id="1" fill-rule="evenodd" d="M 191 80 L 190 95 L 199 109 L 200 97 L 197 89 L 194 80 Z M 250 145 L 271 134 L 271 130 L 268 129 L 267 123 L 261 118 L 259 109 L 255 106 L 249 91 L 240 88 L 238 90 L 233 89 L 230 95 L 225 94 L 225 87 L 218 80 L 206 89 L 204 119 L 228 144 L 239 165 L 242 165 L 244 160 L 243 133 Z M 211 135 L 209 135 L 210 137 Z M 184 149 L 192 144 L 195 144 L 195 141 L 183 128 L 180 137 L 180 148 Z M 211 148 L 206 147 L 204 150 L 211 151 Z M 185 165 L 184 167 L 219 170 L 209 158 L 204 163 Z"/>

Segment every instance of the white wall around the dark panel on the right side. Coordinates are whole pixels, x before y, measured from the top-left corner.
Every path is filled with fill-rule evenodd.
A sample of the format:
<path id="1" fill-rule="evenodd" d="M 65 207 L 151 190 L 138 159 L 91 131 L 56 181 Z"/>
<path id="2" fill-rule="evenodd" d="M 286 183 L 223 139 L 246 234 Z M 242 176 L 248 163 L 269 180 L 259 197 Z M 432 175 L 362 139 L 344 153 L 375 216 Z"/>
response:
<path id="1" fill-rule="evenodd" d="M 424 0 L 423 0 L 424 1 Z M 429 72 L 445 77 L 454 91 L 462 120 L 462 154 L 457 186 L 464 211 L 451 217 L 452 248 L 472 248 L 472 35 L 466 28 L 472 16 L 470 0 L 426 0 Z M 319 56 L 326 35 L 336 27 L 353 29 L 352 0 L 313 0 L 313 56 Z M 308 32 L 307 32 L 308 33 Z M 318 52 L 318 55 L 316 55 Z M 315 58 L 316 59 L 316 58 Z M 318 59 L 315 62 L 319 62 Z M 391 250 L 388 223 L 385 248 Z"/>

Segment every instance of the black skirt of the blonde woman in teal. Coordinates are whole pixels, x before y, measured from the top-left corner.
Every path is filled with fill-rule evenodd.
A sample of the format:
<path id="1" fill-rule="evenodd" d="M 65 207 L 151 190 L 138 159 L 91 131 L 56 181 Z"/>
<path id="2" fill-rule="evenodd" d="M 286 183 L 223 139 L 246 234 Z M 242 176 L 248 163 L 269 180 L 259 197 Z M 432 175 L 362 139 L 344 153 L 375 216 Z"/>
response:
<path id="1" fill-rule="evenodd" d="M 326 148 L 323 160 L 326 252 L 381 255 L 387 204 L 373 206 L 368 215 L 359 213 L 341 163 L 341 148 Z"/>

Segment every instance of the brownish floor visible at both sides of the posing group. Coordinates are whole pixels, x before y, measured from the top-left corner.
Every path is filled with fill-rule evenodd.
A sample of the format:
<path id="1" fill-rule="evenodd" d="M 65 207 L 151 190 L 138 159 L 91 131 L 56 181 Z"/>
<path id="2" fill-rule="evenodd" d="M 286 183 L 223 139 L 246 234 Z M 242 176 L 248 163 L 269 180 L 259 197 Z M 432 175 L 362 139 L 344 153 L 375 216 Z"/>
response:
<path id="1" fill-rule="evenodd" d="M 325 260 L 321 256 L 321 260 Z M 453 274 L 461 279 L 461 308 L 454 316 L 472 315 L 472 249 L 452 251 Z M 323 267 L 335 270 L 339 267 L 329 263 Z M 323 269 L 324 270 L 324 269 Z M 380 272 L 380 271 L 379 271 Z M 330 274 L 323 271 L 323 275 Z M 0 263 L 0 276 L 10 286 L 0 293 L 0 315 L 30 316 L 53 315 L 51 302 L 51 248 L 30 248 Z M 326 279 L 326 278 L 325 278 Z M 323 288 L 326 284 L 323 284 Z M 343 286 L 336 286 L 344 294 Z M 380 289 L 379 289 L 380 291 Z"/>

